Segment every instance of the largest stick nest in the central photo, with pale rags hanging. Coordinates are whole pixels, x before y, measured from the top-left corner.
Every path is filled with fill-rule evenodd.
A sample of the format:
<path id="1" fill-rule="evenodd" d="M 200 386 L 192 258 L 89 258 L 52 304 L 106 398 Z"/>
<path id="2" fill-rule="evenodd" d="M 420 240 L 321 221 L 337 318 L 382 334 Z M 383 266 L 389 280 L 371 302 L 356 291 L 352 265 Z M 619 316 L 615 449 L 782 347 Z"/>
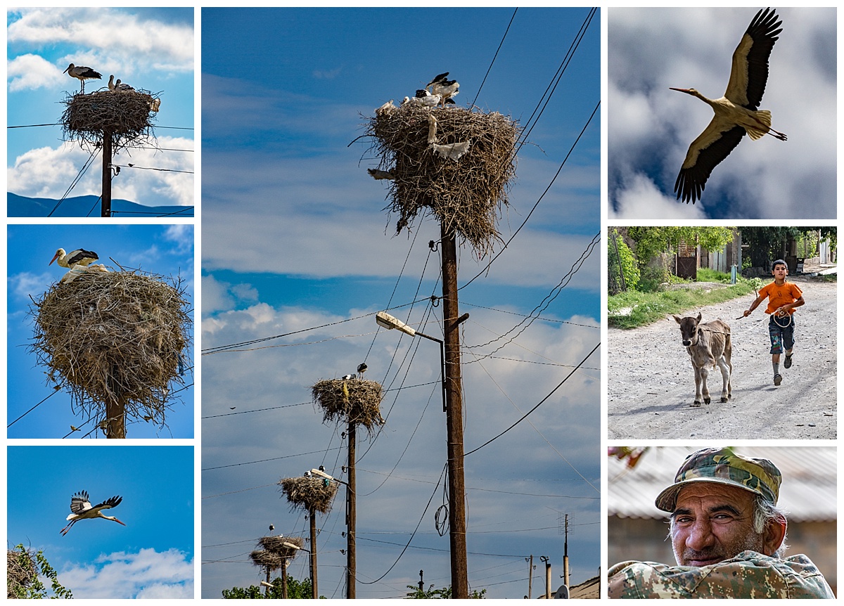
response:
<path id="1" fill-rule="evenodd" d="M 399 215 L 396 233 L 428 207 L 479 257 L 492 252 L 500 240 L 495 220 L 516 175 L 516 122 L 497 111 L 406 103 L 376 112 L 366 134 L 375 139 L 379 169 L 392 174 L 387 208 Z M 459 154 L 463 143 L 468 148 Z"/>

